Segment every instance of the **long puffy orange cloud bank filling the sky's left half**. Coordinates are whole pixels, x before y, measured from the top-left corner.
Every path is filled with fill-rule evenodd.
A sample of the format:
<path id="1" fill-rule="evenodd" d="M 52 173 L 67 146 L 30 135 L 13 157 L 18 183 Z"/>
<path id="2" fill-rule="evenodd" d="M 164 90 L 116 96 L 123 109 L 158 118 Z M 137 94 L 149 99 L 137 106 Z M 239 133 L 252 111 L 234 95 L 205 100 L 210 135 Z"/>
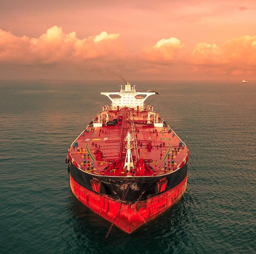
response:
<path id="1" fill-rule="evenodd" d="M 106 56 L 118 58 L 123 52 L 119 35 L 103 31 L 80 40 L 75 32 L 65 33 L 61 27 L 53 26 L 39 38 L 19 38 L 0 29 L 0 63 L 47 65 Z"/>

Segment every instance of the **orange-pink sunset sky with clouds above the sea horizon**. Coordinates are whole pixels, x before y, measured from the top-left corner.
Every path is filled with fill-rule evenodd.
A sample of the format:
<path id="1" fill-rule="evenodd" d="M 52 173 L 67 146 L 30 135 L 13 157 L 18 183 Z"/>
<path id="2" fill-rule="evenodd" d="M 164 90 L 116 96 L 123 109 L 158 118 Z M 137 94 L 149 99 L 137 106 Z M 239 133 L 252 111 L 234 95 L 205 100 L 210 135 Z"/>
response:
<path id="1" fill-rule="evenodd" d="M 0 0 L 0 80 L 256 82 L 255 0 Z"/>

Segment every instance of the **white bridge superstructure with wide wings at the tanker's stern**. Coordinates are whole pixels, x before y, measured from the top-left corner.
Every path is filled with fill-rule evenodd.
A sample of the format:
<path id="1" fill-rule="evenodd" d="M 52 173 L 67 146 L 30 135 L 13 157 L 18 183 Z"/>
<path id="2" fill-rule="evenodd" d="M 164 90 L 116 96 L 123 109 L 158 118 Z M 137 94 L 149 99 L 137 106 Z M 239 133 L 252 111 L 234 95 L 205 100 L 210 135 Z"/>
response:
<path id="1" fill-rule="evenodd" d="M 136 85 L 131 87 L 127 82 L 125 89 L 121 85 L 120 92 L 101 92 L 111 100 L 111 109 L 119 110 L 123 107 L 136 108 L 137 110 L 145 109 L 145 100 L 155 94 L 155 92 L 136 92 Z"/>

